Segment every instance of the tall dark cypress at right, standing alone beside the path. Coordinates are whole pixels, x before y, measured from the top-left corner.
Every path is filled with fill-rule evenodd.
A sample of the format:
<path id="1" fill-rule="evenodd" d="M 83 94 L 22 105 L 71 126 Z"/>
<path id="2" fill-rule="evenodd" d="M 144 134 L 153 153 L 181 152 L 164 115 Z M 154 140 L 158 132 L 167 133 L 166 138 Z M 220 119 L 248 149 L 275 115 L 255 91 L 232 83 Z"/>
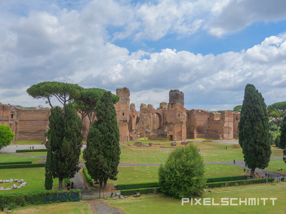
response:
<path id="1" fill-rule="evenodd" d="M 266 104 L 252 84 L 245 87 L 238 128 L 244 161 L 251 169 L 250 175 L 255 177 L 255 168 L 268 166 L 271 146 Z"/>

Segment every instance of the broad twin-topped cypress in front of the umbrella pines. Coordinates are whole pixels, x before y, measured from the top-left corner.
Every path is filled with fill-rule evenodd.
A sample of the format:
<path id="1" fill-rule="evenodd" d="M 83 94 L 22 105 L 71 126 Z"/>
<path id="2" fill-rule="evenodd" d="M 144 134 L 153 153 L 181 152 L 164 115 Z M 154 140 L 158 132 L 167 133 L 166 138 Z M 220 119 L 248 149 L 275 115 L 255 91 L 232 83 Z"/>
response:
<path id="1" fill-rule="evenodd" d="M 63 179 L 74 177 L 80 170 L 82 122 L 72 103 L 68 103 L 64 112 L 58 106 L 51 108 L 49 127 L 46 135 L 51 146 L 53 177 L 59 179 L 59 189 L 62 189 Z"/>

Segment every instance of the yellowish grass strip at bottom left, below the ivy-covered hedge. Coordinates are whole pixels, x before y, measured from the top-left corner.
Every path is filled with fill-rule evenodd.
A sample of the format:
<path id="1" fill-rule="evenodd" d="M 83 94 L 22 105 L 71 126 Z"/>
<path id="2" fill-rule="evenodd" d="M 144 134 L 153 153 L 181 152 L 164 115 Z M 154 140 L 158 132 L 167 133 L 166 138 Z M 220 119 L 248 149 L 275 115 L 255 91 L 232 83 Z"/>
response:
<path id="1" fill-rule="evenodd" d="M 21 187 L 22 188 L 22 187 Z M 28 206 L 25 208 L 19 208 L 12 211 L 17 214 L 90 214 L 89 204 L 85 202 L 61 202 L 61 203 L 50 203 L 37 206 Z M 0 214 L 4 212 L 0 211 Z"/>

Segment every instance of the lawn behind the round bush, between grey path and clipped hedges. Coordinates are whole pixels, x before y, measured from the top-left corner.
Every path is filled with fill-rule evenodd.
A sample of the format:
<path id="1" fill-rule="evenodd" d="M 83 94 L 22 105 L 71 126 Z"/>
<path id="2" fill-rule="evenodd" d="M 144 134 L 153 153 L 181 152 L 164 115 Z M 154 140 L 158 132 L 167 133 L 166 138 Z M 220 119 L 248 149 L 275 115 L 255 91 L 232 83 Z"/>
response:
<path id="1" fill-rule="evenodd" d="M 245 175 L 241 167 L 228 164 L 206 164 L 205 176 L 222 177 L 233 175 Z M 117 180 L 109 180 L 108 183 L 140 183 L 158 181 L 158 166 L 119 166 Z"/>

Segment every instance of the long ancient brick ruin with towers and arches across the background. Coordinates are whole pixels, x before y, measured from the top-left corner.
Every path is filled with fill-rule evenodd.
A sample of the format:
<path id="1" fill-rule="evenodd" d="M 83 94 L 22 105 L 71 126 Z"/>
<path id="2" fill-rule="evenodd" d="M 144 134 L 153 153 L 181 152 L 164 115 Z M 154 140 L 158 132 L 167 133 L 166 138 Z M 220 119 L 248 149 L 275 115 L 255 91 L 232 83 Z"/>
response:
<path id="1" fill-rule="evenodd" d="M 115 104 L 120 142 L 137 140 L 138 136 L 156 140 L 167 138 L 182 141 L 187 138 L 215 138 L 232 140 L 238 138 L 239 112 L 221 113 L 184 108 L 184 93 L 170 90 L 169 102 L 160 103 L 160 109 L 152 104 L 141 104 L 136 111 L 130 104 L 128 88 L 117 88 L 120 97 Z M 49 127 L 50 109 L 23 109 L 12 105 L 0 105 L 0 124 L 10 126 L 14 140 L 45 140 L 44 133 Z M 86 139 L 89 120 L 83 120 L 82 134 Z"/>

